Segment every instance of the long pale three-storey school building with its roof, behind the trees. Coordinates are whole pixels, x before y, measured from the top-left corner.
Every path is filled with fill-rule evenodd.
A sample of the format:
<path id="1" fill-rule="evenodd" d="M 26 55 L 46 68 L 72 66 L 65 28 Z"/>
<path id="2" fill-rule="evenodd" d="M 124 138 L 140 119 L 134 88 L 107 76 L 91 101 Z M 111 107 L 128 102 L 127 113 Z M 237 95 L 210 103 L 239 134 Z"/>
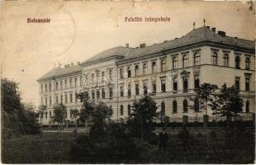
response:
<path id="1" fill-rule="evenodd" d="M 173 120 L 183 115 L 212 115 L 211 110 L 189 108 L 189 97 L 204 82 L 219 88 L 239 87 L 243 112 L 254 113 L 254 41 L 225 35 L 224 31 L 202 26 L 187 35 L 163 43 L 130 48 L 115 47 L 77 65 L 57 67 L 41 77 L 40 104 L 47 111 L 40 115 L 49 124 L 53 106 L 63 102 L 67 118 L 81 104 L 75 93 L 87 90 L 94 101 L 104 101 L 113 110 L 112 119 L 126 119 L 133 101 L 152 93 L 159 111 Z M 197 105 L 197 101 L 196 101 Z"/>

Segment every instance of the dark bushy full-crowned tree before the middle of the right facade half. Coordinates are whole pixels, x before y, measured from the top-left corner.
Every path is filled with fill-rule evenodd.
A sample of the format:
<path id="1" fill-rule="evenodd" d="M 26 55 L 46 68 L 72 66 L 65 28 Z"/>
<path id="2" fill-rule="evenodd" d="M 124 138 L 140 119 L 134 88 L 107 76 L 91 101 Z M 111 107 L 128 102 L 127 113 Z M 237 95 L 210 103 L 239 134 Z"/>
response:
<path id="1" fill-rule="evenodd" d="M 135 101 L 133 104 L 134 113 L 130 115 L 128 120 L 130 131 L 134 134 L 140 132 L 140 139 L 144 139 L 145 135 L 152 131 L 152 123 L 157 115 L 157 108 L 156 102 L 149 95 L 145 95 L 139 101 Z"/>

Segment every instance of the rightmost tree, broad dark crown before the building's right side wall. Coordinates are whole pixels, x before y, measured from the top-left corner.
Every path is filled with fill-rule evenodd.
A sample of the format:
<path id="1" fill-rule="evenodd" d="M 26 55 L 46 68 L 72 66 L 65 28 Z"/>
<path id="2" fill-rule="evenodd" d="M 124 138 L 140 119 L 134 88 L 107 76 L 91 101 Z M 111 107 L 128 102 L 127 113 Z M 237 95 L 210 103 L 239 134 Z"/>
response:
<path id="1" fill-rule="evenodd" d="M 213 114 L 219 116 L 226 116 L 227 126 L 230 124 L 232 116 L 239 116 L 239 112 L 243 111 L 243 100 L 239 97 L 239 90 L 235 85 L 227 87 L 224 84 L 220 93 L 216 95 L 216 101 L 213 101 Z"/>

